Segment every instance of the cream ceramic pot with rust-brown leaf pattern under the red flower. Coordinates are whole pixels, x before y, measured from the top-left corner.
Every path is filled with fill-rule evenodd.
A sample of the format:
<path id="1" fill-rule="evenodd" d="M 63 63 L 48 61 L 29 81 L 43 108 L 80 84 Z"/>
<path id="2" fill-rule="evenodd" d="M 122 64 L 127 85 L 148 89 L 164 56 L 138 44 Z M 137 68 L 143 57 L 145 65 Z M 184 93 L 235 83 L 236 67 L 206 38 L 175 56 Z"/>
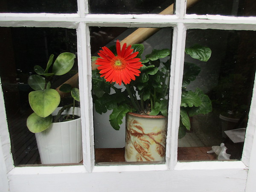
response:
<path id="1" fill-rule="evenodd" d="M 167 118 L 126 114 L 125 161 L 164 161 Z"/>

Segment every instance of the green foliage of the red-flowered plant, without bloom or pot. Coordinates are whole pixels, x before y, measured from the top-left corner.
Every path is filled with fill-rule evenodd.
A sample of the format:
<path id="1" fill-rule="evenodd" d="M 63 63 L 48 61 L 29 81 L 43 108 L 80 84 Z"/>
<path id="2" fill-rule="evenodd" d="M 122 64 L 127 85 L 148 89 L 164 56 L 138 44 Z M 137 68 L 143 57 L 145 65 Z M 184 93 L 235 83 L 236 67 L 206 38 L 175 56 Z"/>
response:
<path id="1" fill-rule="evenodd" d="M 137 57 L 142 58 L 143 44 L 134 44 L 133 52 L 139 52 Z M 115 53 L 113 47 L 113 53 Z M 211 50 L 208 47 L 196 45 L 186 49 L 186 53 L 200 61 L 208 61 Z M 116 54 L 116 53 L 115 53 Z M 170 50 L 153 49 L 141 60 L 143 66 L 136 80 L 120 87 L 115 83 L 106 82 L 99 70 L 93 71 L 93 102 L 96 112 L 102 114 L 113 110 L 110 114 L 112 127 L 119 130 L 122 119 L 128 112 L 147 115 L 168 115 L 168 93 L 170 75 Z M 98 57 L 93 57 L 95 61 Z M 190 129 L 189 116 L 211 111 L 209 97 L 197 89 L 195 92 L 187 91 L 186 85 L 194 81 L 200 68 L 195 64 L 185 63 L 183 79 L 183 92 L 181 102 L 181 128 Z M 181 131 L 182 132 L 182 131 Z"/>

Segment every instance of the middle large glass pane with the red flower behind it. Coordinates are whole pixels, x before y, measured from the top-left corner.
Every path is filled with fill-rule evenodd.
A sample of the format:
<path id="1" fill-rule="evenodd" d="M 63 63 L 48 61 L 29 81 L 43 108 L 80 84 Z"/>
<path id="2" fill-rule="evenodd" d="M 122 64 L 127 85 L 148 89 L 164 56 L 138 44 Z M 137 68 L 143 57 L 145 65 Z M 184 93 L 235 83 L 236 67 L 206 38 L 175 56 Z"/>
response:
<path id="1" fill-rule="evenodd" d="M 154 35 L 137 37 L 137 32 L 148 30 Z M 172 28 L 91 27 L 90 34 L 96 163 L 163 163 Z M 129 52 L 128 45 L 119 52 L 119 42 L 124 41 L 136 53 Z"/>

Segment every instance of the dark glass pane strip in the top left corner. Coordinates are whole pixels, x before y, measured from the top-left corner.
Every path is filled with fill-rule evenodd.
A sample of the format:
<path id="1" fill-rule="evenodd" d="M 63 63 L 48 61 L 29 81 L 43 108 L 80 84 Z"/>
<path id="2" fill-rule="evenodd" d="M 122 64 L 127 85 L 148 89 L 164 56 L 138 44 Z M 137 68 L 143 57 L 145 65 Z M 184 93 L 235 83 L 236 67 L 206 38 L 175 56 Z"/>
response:
<path id="1" fill-rule="evenodd" d="M 76 13 L 76 0 L 1 0 L 0 12 L 20 13 Z"/>

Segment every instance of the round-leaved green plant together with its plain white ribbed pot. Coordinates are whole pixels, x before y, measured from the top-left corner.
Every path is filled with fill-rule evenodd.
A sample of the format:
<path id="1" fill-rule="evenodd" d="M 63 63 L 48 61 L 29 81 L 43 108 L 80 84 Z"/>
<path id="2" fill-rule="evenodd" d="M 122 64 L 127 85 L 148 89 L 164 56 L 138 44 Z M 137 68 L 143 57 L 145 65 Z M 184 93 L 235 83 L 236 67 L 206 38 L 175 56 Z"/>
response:
<path id="1" fill-rule="evenodd" d="M 79 90 L 69 84 L 63 84 L 60 90 L 71 93 L 70 104 L 58 107 L 61 96 L 51 88 L 55 76 L 68 73 L 76 56 L 63 52 L 53 62 L 50 55 L 46 69 L 36 65 L 35 75 L 29 76 L 28 84 L 34 91 L 29 93 L 29 105 L 34 111 L 27 118 L 29 131 L 35 133 L 42 164 L 79 163 L 81 154 L 81 114 L 75 107 L 79 102 Z M 49 69 L 52 69 L 49 72 Z"/>

